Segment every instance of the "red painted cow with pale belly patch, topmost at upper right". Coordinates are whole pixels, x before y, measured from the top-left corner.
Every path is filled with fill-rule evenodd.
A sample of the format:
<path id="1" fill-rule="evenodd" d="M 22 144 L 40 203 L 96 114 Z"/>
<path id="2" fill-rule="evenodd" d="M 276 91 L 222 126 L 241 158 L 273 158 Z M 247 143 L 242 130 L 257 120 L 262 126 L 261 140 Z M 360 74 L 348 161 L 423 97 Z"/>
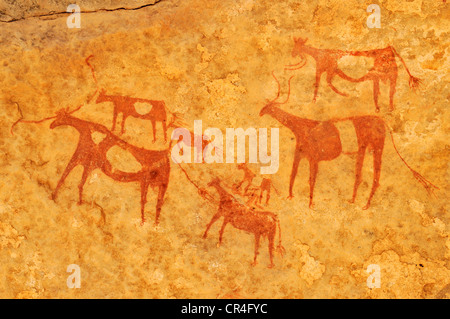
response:
<path id="1" fill-rule="evenodd" d="M 314 83 L 314 98 L 316 101 L 317 91 L 319 90 L 320 77 L 322 73 L 327 74 L 327 84 L 336 93 L 347 96 L 346 93 L 340 92 L 332 83 L 334 76 L 339 76 L 344 80 L 350 82 L 373 82 L 373 99 L 375 103 L 376 112 L 380 111 L 378 104 L 378 95 L 380 93 L 380 81 L 386 83 L 389 81 L 389 108 L 394 110 L 394 94 L 397 85 L 398 68 L 395 61 L 397 56 L 404 65 L 406 72 L 409 75 L 409 86 L 413 89 L 417 88 L 421 83 L 421 80 L 412 76 L 406 66 L 403 58 L 397 53 L 392 46 L 388 46 L 384 49 L 375 49 L 367 51 L 342 51 L 342 50 L 330 50 L 330 49 L 317 49 L 306 44 L 308 39 L 294 38 L 294 49 L 292 50 L 292 56 L 300 56 L 302 61 L 297 64 L 288 66 L 288 70 L 297 70 L 306 64 L 305 54 L 312 56 L 316 60 L 316 82 Z M 359 79 L 352 78 L 346 75 L 342 70 L 338 68 L 338 60 L 345 55 L 352 56 L 365 56 L 373 58 L 373 67 L 368 73 Z"/>

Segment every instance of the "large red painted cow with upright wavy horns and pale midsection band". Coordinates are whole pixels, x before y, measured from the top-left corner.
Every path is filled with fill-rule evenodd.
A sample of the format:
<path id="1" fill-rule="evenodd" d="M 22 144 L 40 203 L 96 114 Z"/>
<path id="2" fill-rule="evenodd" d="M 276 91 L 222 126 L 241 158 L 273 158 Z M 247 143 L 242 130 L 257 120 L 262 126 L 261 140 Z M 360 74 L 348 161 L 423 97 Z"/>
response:
<path id="1" fill-rule="evenodd" d="M 311 208 L 313 207 L 314 185 L 316 183 L 316 177 L 319 170 L 319 162 L 331 161 L 337 158 L 342 153 L 341 139 L 335 123 L 342 121 L 351 121 L 356 131 L 358 141 L 355 173 L 356 176 L 355 185 L 353 188 L 352 203 L 354 203 L 355 201 L 358 187 L 361 184 L 361 170 L 366 150 L 373 150 L 373 184 L 369 198 L 367 200 L 367 204 L 366 206 L 364 206 L 364 209 L 369 208 L 372 197 L 380 184 L 381 160 L 387 127 L 383 119 L 377 116 L 354 116 L 348 118 L 333 119 L 329 121 L 314 121 L 294 116 L 279 108 L 279 105 L 286 103 L 289 99 L 290 80 L 292 79 L 292 77 L 291 79 L 289 79 L 288 97 L 285 102 L 280 103 L 276 102 L 280 94 L 280 83 L 278 82 L 275 75 L 272 75 L 278 83 L 278 94 L 274 100 L 269 101 L 266 106 L 261 109 L 260 116 L 263 116 L 265 114 L 272 116 L 282 125 L 290 129 L 295 135 L 296 145 L 294 148 L 294 163 L 290 176 L 288 198 L 293 197 L 292 189 L 294 186 L 295 177 L 297 175 L 299 162 L 302 158 L 306 158 L 309 162 L 310 169 L 309 206 Z M 429 193 L 431 193 L 434 188 L 437 189 L 436 186 L 427 181 L 423 176 L 413 170 L 405 162 L 394 144 L 392 131 L 389 130 L 389 132 L 391 134 L 391 139 L 395 151 L 397 152 L 400 159 L 404 162 L 404 164 L 412 171 L 414 177 L 425 187 L 425 189 Z"/>

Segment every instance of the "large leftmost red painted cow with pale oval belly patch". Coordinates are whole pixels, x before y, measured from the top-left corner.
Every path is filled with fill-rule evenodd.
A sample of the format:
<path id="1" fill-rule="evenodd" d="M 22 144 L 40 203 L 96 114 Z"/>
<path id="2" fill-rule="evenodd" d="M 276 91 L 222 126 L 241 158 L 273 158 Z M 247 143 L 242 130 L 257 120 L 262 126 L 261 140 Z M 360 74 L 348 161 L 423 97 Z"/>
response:
<path id="1" fill-rule="evenodd" d="M 75 153 L 72 155 L 71 160 L 67 164 L 55 191 L 52 194 L 52 198 L 55 200 L 58 194 L 58 190 L 64 183 L 67 175 L 77 166 L 83 166 L 83 175 L 81 177 L 79 189 L 79 201 L 81 204 L 83 199 L 83 187 L 89 174 L 95 170 L 100 169 L 105 175 L 119 182 L 139 182 L 141 185 L 141 219 L 142 223 L 145 222 L 144 208 L 147 202 L 148 187 L 158 187 L 158 199 L 156 203 L 156 217 L 155 224 L 159 222 L 159 215 L 161 213 L 161 207 L 163 205 L 164 195 L 169 184 L 170 174 L 170 162 L 169 151 L 153 151 L 146 150 L 133 146 L 116 135 L 111 133 L 105 126 L 93 122 L 81 120 L 73 117 L 66 110 L 60 110 L 56 119 L 50 124 L 50 128 L 54 129 L 57 126 L 72 126 L 79 135 L 78 146 Z M 94 142 L 92 134 L 99 132 L 105 135 L 105 138 L 98 144 Z M 130 152 L 136 160 L 141 164 L 142 169 L 139 172 L 123 172 L 115 170 L 111 163 L 107 159 L 107 152 L 113 146 L 119 146 L 124 150 Z"/>

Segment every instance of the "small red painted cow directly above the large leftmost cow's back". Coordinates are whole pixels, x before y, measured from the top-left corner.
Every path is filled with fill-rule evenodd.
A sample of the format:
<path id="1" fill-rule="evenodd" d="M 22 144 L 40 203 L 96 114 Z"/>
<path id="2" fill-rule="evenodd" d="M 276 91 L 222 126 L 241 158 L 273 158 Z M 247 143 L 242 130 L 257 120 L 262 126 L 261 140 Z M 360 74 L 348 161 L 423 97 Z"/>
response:
<path id="1" fill-rule="evenodd" d="M 100 90 L 96 103 L 112 102 L 114 104 L 112 131 L 116 128 L 117 116 L 122 114 L 122 123 L 120 133 L 125 132 L 125 121 L 128 117 L 149 120 L 152 123 L 153 142 L 156 141 L 156 122 L 161 122 L 164 133 L 164 141 L 167 141 L 167 108 L 164 101 L 154 101 L 140 98 L 132 98 L 122 95 L 106 95 L 104 89 Z M 151 110 L 146 114 L 139 114 L 136 111 L 136 103 L 145 103 L 151 105 Z M 174 119 L 178 118 L 178 114 L 171 113 Z"/>

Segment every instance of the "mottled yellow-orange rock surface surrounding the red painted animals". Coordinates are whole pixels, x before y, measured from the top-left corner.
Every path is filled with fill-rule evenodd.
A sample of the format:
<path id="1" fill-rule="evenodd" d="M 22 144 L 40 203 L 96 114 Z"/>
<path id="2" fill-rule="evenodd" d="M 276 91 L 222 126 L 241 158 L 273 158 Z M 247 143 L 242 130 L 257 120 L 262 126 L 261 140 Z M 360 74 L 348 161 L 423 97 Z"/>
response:
<path id="1" fill-rule="evenodd" d="M 445 1 L 162 0 L 79 1 L 81 28 L 66 26 L 70 1 L 0 1 L 0 297 L 2 298 L 448 298 L 449 263 L 449 7 Z M 366 8 L 381 7 L 381 28 L 368 29 Z M 114 10 L 114 8 L 138 8 Z M 100 9 L 110 9 L 105 11 Z M 89 11 L 89 12 L 87 12 Z M 51 13 L 54 12 L 54 13 Z M 48 14 L 50 13 L 50 14 Z M 42 15 L 41 17 L 38 17 Z M 294 73 L 284 65 L 293 37 L 318 48 L 367 50 L 393 45 L 411 73 L 423 80 L 410 90 L 397 59 L 395 111 L 381 86 L 381 113 L 394 130 L 406 161 L 439 186 L 435 197 L 403 165 L 386 139 L 381 186 L 362 210 L 372 183 L 368 154 L 355 204 L 354 158 L 323 162 L 308 208 L 306 161 L 300 164 L 294 199 L 286 200 L 294 135 L 269 116 L 259 117 L 276 95 L 275 70 L 291 97 L 283 109 L 327 120 L 374 114 L 371 83 L 322 78 L 312 103 L 315 63 Z M 148 222 L 140 225 L 137 183 L 118 183 L 95 171 L 78 206 L 81 167 L 56 187 L 77 145 L 70 127 L 11 125 L 83 108 L 77 117 L 110 127 L 111 103 L 87 103 L 95 91 L 84 60 L 94 55 L 100 87 L 109 94 L 164 100 L 191 125 L 203 128 L 280 127 L 280 169 L 273 176 L 280 196 L 269 209 L 281 220 L 286 255 L 268 264 L 267 241 L 259 264 L 250 266 L 253 236 L 228 226 L 217 247 L 220 223 L 201 235 L 217 207 L 202 199 L 172 165 L 161 224 L 152 225 L 155 193 L 149 190 Z M 342 68 L 358 72 L 352 61 Z M 367 66 L 365 66 L 367 67 Z M 369 66 L 370 67 L 370 66 Z M 356 73 L 355 73 L 356 74 Z M 283 97 L 282 97 L 283 98 Z M 129 118 L 123 138 L 146 148 L 150 125 Z M 161 133 L 158 126 L 157 132 Z M 118 155 L 120 156 L 120 155 Z M 172 163 L 173 164 L 173 163 Z M 236 182 L 235 164 L 187 166 L 202 187 L 213 176 Z M 254 172 L 259 167 L 251 164 Z M 214 190 L 210 190 L 215 195 Z M 81 267 L 81 288 L 69 289 L 69 264 Z M 381 288 L 369 289 L 366 269 L 381 267 Z"/>

